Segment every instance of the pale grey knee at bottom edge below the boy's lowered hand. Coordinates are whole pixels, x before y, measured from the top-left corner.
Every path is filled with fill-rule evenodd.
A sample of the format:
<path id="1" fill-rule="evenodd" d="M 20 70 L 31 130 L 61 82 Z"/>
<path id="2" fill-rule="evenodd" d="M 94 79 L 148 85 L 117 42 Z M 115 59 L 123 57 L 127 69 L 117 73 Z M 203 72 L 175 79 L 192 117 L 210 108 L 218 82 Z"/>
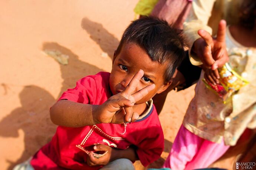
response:
<path id="1" fill-rule="evenodd" d="M 129 159 L 116 159 L 109 162 L 101 170 L 135 170 L 134 165 Z"/>

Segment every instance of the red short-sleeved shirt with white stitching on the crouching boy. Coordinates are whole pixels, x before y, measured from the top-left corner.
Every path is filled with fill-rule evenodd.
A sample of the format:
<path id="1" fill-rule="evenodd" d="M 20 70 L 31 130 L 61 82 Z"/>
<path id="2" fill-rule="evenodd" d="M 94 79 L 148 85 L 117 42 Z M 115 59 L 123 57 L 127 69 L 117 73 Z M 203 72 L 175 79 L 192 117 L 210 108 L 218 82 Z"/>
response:
<path id="1" fill-rule="evenodd" d="M 68 99 L 79 103 L 101 105 L 111 95 L 109 73 L 99 72 L 79 80 L 74 89 L 68 89 L 59 100 Z M 124 125 L 101 123 L 81 128 L 59 126 L 52 141 L 43 146 L 31 160 L 35 169 L 81 169 L 96 170 L 102 166 L 89 167 L 86 164 L 93 144 L 99 143 L 127 149 L 137 147 L 141 163 L 147 166 L 157 160 L 164 149 L 163 130 L 153 107 L 151 114 L 144 120 L 129 123 L 124 132 Z"/>

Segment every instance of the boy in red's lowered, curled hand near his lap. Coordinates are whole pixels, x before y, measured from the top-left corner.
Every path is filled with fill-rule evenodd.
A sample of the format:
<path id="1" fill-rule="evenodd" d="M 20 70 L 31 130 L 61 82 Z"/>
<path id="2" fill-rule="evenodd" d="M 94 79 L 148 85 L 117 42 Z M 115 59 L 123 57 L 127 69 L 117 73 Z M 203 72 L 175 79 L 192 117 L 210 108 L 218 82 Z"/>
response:
<path id="1" fill-rule="evenodd" d="M 93 147 L 95 151 L 104 151 L 107 152 L 104 156 L 96 158 L 93 156 L 93 152 L 90 152 L 87 157 L 87 164 L 89 166 L 98 166 L 98 165 L 106 165 L 109 162 L 115 160 L 116 150 L 108 145 L 95 145 Z"/>

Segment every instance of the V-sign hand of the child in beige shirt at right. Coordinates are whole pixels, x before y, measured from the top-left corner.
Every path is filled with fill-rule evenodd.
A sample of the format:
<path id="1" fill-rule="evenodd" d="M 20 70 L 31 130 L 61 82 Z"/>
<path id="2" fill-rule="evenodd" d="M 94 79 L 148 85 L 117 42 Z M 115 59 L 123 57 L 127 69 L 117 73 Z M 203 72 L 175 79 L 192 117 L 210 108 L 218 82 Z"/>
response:
<path id="1" fill-rule="evenodd" d="M 217 68 L 222 67 L 229 60 L 225 41 L 226 21 L 220 21 L 216 38 L 205 30 L 198 30 L 198 35 L 201 38 L 194 42 L 193 51 L 201 59 L 204 67 L 211 68 L 216 78 L 219 79 Z"/>

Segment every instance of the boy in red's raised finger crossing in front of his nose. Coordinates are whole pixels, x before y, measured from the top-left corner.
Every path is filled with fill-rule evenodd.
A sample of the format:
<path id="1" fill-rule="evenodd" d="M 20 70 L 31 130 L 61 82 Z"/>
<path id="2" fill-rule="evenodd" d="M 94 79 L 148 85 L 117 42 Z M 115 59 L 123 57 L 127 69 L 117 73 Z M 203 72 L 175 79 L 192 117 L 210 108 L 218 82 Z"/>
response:
<path id="1" fill-rule="evenodd" d="M 131 81 L 129 82 L 129 84 L 126 86 L 126 88 L 124 89 L 124 91 L 122 91 L 121 93 L 123 95 L 125 95 L 125 98 L 129 97 L 136 89 L 138 83 L 140 82 L 140 79 L 142 78 L 142 76 L 144 75 L 144 71 L 142 69 L 140 69 L 131 79 Z"/>

